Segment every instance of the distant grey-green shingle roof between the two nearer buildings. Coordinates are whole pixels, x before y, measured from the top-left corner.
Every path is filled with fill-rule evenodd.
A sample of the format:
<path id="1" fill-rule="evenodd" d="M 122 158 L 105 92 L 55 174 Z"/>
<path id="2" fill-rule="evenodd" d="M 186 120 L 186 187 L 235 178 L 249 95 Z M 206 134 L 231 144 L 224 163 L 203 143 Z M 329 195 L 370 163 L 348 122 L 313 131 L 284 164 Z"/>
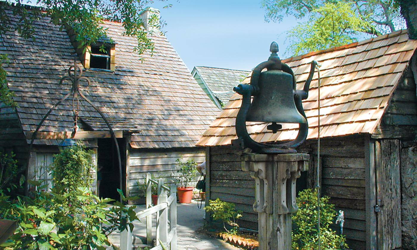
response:
<path id="1" fill-rule="evenodd" d="M 246 70 L 231 70 L 216 67 L 196 66 L 191 75 L 198 80 L 198 76 L 214 97 L 226 104 L 234 94 L 236 87 L 250 73 Z M 198 75 L 198 76 L 196 76 Z"/>

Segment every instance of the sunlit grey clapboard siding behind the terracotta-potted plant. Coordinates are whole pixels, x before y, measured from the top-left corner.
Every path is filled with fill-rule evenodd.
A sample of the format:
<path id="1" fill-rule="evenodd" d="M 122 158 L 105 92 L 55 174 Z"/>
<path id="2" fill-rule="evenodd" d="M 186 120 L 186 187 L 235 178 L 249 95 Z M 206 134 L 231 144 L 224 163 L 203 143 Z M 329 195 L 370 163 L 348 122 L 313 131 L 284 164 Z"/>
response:
<path id="1" fill-rule="evenodd" d="M 151 173 L 152 178 L 163 178 L 165 183 L 173 183 L 172 174 L 176 166 L 176 160 L 183 158 L 183 160 L 193 159 L 200 164 L 206 160 L 206 154 L 202 148 L 183 148 L 180 150 L 166 151 L 144 151 L 130 149 L 128 161 L 128 190 L 130 196 L 138 195 L 137 183 L 144 183 L 146 173 Z M 198 176 L 191 183 L 196 185 Z"/>

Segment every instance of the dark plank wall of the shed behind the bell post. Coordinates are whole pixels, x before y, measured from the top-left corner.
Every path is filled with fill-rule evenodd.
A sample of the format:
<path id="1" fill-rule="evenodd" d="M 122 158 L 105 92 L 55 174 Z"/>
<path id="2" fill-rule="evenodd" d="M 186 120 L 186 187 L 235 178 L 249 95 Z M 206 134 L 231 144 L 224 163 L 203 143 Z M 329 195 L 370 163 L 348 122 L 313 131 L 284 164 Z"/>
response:
<path id="1" fill-rule="evenodd" d="M 317 159 L 317 141 L 310 140 L 299 149 Z M 322 195 L 327 195 L 336 211 L 345 215 L 344 234 L 352 249 L 365 249 L 365 151 L 363 136 L 321 140 Z M 314 160 L 312 160 L 314 161 Z M 314 162 L 309 173 L 314 173 Z M 243 211 L 239 225 L 257 230 L 258 217 L 252 209 L 254 180 L 240 167 L 240 153 L 231 145 L 210 148 L 210 199 L 233 202 Z M 311 180 L 311 177 L 313 180 Z M 307 176 L 315 186 L 314 176 Z M 337 225 L 334 229 L 339 231 Z"/>

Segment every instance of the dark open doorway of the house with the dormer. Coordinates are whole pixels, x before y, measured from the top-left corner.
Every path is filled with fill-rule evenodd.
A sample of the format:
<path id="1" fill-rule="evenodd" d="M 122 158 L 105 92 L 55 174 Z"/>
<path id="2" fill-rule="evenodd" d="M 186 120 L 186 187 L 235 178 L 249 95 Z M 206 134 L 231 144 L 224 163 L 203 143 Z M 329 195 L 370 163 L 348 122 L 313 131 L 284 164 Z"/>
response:
<path id="1" fill-rule="evenodd" d="M 120 156 L 122 161 L 122 185 L 126 190 L 126 139 L 118 138 Z M 98 179 L 101 177 L 99 186 L 99 196 L 120 200 L 117 189 L 120 188 L 120 175 L 117 148 L 113 138 L 98 139 L 97 156 Z M 99 177 L 100 176 L 100 177 Z"/>

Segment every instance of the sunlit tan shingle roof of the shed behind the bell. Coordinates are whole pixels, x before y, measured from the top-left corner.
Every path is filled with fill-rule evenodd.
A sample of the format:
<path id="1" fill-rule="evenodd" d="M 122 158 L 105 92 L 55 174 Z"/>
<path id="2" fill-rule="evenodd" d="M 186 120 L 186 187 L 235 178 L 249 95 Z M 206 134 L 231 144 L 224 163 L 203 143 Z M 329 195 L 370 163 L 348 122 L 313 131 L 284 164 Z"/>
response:
<path id="1" fill-rule="evenodd" d="M 321 137 L 372 133 L 387 108 L 400 77 L 417 48 L 417 40 L 409 40 L 407 30 L 374 37 L 328 50 L 291 57 L 283 62 L 294 71 L 297 89 L 302 89 L 310 70 L 310 62 L 321 63 L 320 123 Z M 249 84 L 250 76 L 244 83 Z M 317 72 L 311 81 L 309 97 L 303 107 L 309 122 L 307 139 L 318 135 Z M 219 117 L 211 123 L 199 146 L 231 144 L 237 139 L 236 115 L 241 95 L 235 93 Z M 266 123 L 250 122 L 248 133 L 258 142 L 294 139 L 298 124 L 284 124 L 273 134 Z"/>

